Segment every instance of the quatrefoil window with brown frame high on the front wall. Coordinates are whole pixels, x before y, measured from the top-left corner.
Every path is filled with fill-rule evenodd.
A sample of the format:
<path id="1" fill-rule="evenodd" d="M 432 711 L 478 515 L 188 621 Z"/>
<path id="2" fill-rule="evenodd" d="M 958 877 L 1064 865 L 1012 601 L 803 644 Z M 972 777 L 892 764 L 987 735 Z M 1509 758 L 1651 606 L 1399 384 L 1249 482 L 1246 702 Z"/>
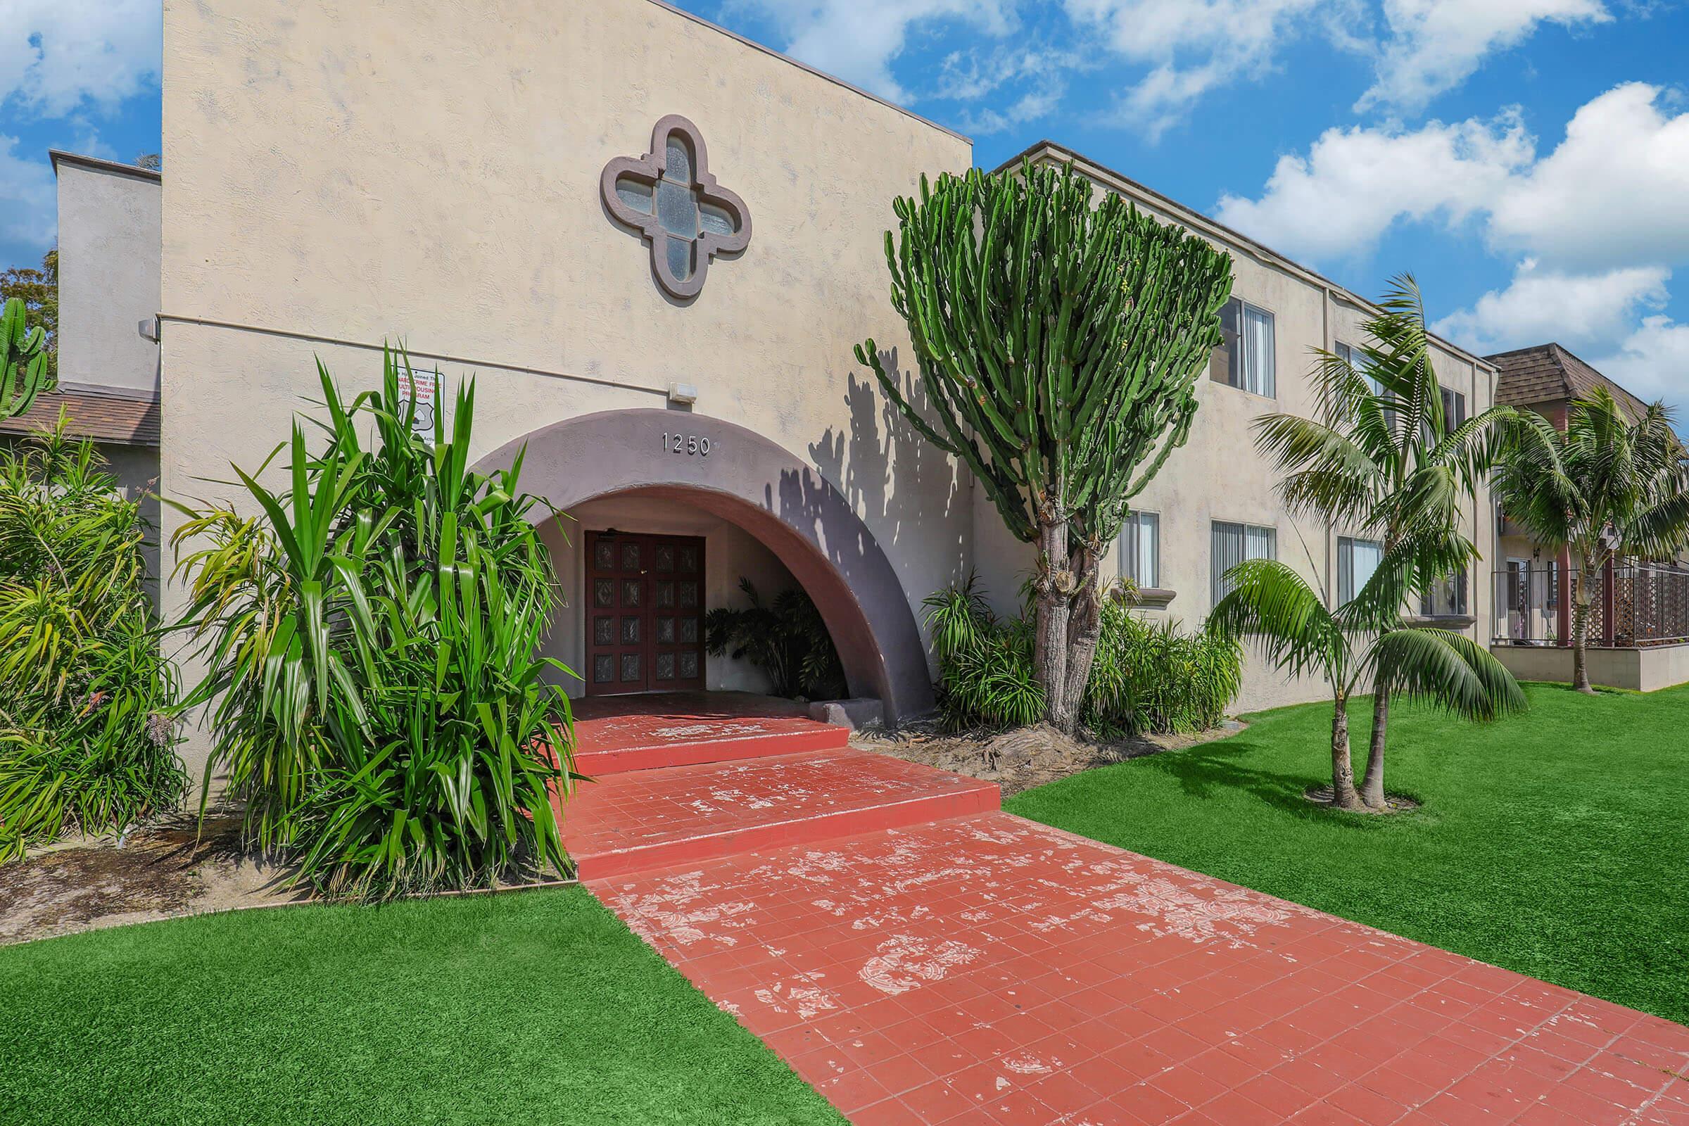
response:
<path id="1" fill-rule="evenodd" d="M 716 182 L 698 127 L 677 113 L 657 122 L 650 152 L 616 157 L 600 176 L 610 214 L 650 243 L 650 268 L 671 295 L 696 297 L 716 255 L 750 245 L 745 201 Z"/>

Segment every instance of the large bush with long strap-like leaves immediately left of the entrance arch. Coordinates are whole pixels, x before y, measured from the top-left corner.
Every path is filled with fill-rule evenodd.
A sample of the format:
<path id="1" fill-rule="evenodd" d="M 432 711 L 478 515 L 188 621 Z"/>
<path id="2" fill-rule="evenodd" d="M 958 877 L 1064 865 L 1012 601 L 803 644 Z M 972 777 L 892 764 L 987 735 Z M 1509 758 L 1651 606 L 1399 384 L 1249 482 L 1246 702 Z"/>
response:
<path id="1" fill-rule="evenodd" d="M 248 841 L 331 895 L 568 864 L 549 788 L 574 778 L 573 721 L 542 679 L 568 669 L 535 655 L 557 598 L 529 522 L 542 501 L 520 491 L 520 457 L 468 468 L 473 382 L 429 444 L 400 373 L 388 351 L 380 395 L 346 403 L 319 363 L 321 451 L 296 422 L 270 456 L 285 488 L 236 468 L 253 515 L 182 506 L 172 537 L 177 628 L 206 663 L 184 701 L 209 706 L 206 787 L 221 770 Z"/>

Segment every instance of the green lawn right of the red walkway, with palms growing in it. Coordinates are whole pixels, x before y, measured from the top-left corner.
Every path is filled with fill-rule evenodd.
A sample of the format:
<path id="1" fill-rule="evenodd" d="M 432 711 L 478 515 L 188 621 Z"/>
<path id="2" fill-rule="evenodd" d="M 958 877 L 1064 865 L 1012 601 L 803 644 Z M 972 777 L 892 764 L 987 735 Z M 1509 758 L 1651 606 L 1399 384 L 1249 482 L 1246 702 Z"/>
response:
<path id="1" fill-rule="evenodd" d="M 1319 809 L 1331 706 L 1262 712 L 1218 743 L 1089 770 L 1007 809 L 1689 1023 L 1689 687 L 1578 696 L 1466 724 L 1392 709 L 1385 783 L 1424 805 Z M 1356 771 L 1371 699 L 1350 707 Z"/>

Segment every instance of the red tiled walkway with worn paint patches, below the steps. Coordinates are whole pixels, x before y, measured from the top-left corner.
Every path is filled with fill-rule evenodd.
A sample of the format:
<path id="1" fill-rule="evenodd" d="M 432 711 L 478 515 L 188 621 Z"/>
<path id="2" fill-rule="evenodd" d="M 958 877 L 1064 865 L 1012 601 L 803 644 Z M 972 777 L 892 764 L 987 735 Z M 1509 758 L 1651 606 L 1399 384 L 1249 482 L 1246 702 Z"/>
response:
<path id="1" fill-rule="evenodd" d="M 1679 1025 L 1002 812 L 589 885 L 858 1126 L 1689 1126 Z"/>

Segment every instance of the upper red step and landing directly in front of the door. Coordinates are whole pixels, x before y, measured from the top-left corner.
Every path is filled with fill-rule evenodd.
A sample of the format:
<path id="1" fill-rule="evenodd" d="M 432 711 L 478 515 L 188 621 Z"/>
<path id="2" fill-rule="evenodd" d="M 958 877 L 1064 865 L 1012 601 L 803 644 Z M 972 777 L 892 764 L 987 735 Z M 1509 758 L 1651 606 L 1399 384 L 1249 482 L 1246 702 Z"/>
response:
<path id="1" fill-rule="evenodd" d="M 600 696 L 574 704 L 574 768 L 598 778 L 628 770 L 826 751 L 850 731 L 804 704 L 748 692 Z"/>

